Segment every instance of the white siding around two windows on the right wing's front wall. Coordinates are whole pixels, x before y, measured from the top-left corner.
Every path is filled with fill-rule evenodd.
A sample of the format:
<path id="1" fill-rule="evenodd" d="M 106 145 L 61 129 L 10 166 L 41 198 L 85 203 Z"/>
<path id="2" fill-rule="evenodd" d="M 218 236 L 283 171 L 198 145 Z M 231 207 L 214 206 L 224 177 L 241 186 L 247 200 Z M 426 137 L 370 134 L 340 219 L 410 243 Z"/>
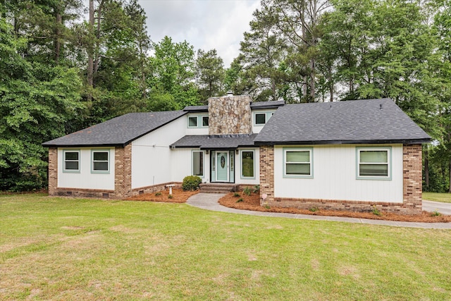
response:
<path id="1" fill-rule="evenodd" d="M 358 179 L 356 145 L 314 146 L 311 156 L 314 178 L 284 177 L 284 149 L 290 147 L 274 147 L 275 197 L 402 203 L 402 145 L 362 145 L 391 148 L 391 180 Z"/>

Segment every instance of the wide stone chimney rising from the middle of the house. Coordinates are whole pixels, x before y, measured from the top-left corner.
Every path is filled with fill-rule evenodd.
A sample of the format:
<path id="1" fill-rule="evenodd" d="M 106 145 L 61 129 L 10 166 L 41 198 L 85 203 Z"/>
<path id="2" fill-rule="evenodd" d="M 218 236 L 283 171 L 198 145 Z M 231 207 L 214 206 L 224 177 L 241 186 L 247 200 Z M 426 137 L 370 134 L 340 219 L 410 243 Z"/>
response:
<path id="1" fill-rule="evenodd" d="M 251 97 L 234 96 L 209 98 L 209 135 L 252 134 Z"/>

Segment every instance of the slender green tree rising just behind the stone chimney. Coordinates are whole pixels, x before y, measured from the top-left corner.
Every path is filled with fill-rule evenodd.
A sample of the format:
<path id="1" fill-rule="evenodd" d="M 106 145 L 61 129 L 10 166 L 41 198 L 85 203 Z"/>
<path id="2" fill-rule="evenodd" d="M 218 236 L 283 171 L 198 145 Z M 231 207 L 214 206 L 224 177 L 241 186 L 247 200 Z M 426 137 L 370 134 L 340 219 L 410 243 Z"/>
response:
<path id="1" fill-rule="evenodd" d="M 196 70 L 196 82 L 202 102 L 206 102 L 209 97 L 226 92 L 223 87 L 226 74 L 223 59 L 218 56 L 216 49 L 206 52 L 202 49 L 197 51 Z"/>

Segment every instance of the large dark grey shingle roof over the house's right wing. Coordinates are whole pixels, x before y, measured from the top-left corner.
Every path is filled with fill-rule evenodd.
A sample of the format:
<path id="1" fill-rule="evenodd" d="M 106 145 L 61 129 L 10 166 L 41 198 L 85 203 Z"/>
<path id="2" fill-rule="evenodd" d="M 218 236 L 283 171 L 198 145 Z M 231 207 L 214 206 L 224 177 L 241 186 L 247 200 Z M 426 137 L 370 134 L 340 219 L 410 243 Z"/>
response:
<path id="1" fill-rule="evenodd" d="M 261 129 L 256 145 L 422 143 L 431 140 L 391 99 L 288 104 Z"/>

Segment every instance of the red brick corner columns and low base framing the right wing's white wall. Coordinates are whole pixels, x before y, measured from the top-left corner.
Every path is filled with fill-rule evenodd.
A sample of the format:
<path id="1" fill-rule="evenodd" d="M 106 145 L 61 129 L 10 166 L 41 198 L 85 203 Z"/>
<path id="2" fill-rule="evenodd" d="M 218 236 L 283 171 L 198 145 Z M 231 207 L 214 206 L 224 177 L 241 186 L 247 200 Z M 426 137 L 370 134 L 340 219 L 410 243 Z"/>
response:
<path id="1" fill-rule="evenodd" d="M 294 207 L 299 209 L 333 209 L 368 212 L 375 206 L 379 211 L 395 214 L 421 214 L 421 145 L 404 145 L 402 155 L 403 202 L 369 202 L 338 199 L 303 199 L 274 196 L 274 148 L 260 147 L 260 196 L 266 194 L 271 207 Z"/>

